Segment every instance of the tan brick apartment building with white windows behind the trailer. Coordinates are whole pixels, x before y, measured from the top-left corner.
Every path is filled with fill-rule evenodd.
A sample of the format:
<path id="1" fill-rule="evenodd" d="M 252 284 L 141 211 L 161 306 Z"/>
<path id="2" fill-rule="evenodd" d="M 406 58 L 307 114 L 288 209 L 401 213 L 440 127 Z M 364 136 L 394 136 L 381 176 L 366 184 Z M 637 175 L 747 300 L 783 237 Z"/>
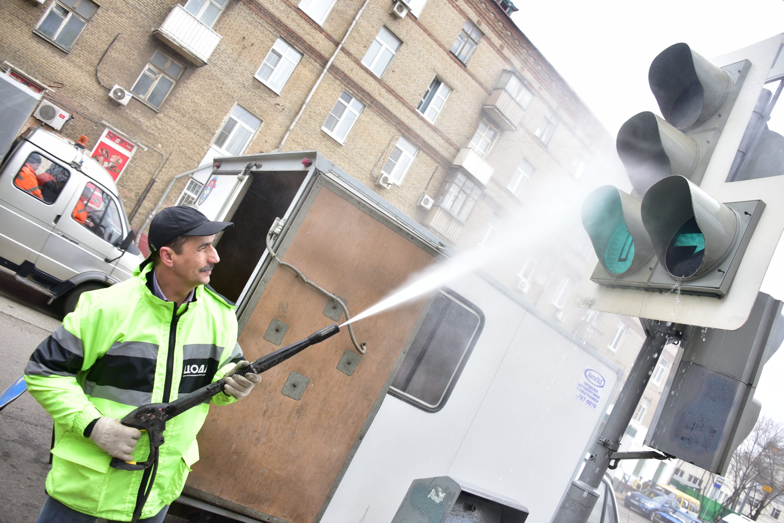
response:
<path id="1" fill-rule="evenodd" d="M 162 197 L 193 201 L 213 157 L 315 149 L 467 249 L 518 233 L 521 212 L 541 226 L 549 200 L 579 209 L 579 195 L 622 172 L 614 138 L 515 10 L 509 0 L 7 0 L 0 62 L 71 115 L 67 138 L 112 132 L 132 145 L 117 183 L 136 227 Z M 626 375 L 637 320 L 572 303 L 593 263 L 578 223 L 492 274 Z M 640 424 L 658 401 L 649 389 Z"/>

